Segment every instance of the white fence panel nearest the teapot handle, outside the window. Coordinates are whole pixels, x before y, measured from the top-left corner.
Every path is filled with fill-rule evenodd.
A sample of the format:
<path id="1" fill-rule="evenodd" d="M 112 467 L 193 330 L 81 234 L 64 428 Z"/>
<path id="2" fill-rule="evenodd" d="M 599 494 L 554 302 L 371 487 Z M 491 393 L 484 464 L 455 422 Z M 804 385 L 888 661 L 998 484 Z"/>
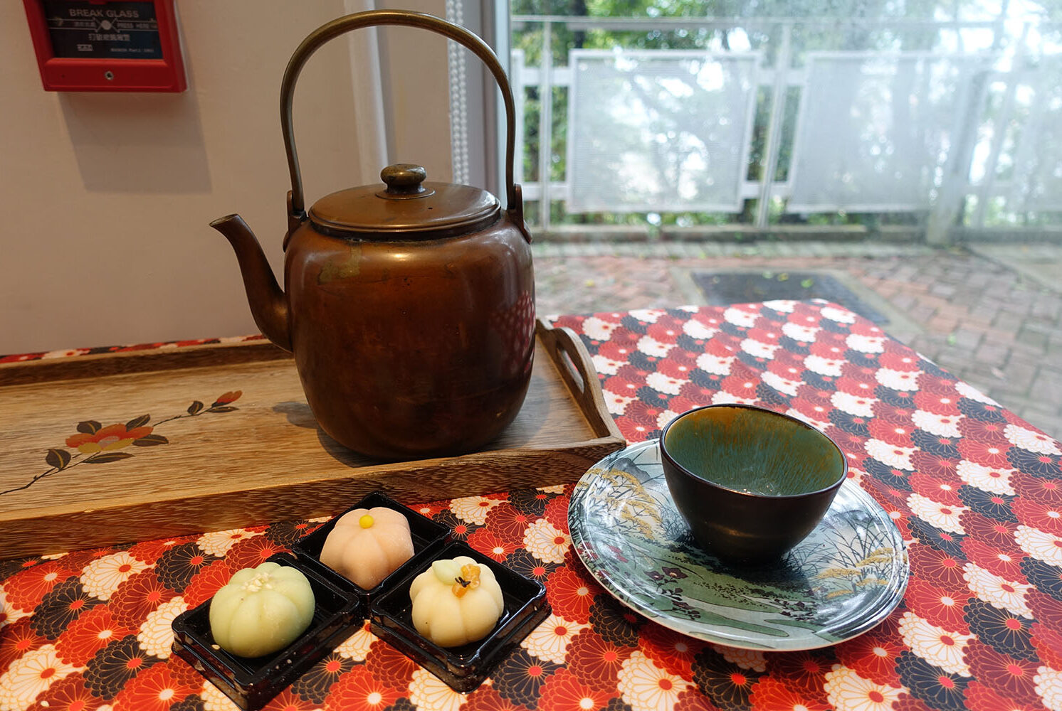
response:
<path id="1" fill-rule="evenodd" d="M 569 212 L 741 211 L 759 53 L 568 57 Z"/>

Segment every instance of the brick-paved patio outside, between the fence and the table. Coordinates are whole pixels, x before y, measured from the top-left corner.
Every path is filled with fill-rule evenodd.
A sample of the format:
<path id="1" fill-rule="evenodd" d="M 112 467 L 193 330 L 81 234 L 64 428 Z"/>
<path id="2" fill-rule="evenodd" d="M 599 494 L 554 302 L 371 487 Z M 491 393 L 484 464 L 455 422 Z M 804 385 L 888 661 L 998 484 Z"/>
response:
<path id="1" fill-rule="evenodd" d="M 705 304 L 696 272 L 828 274 L 885 314 L 890 335 L 1062 439 L 1062 245 L 590 242 L 534 252 L 539 314 Z"/>

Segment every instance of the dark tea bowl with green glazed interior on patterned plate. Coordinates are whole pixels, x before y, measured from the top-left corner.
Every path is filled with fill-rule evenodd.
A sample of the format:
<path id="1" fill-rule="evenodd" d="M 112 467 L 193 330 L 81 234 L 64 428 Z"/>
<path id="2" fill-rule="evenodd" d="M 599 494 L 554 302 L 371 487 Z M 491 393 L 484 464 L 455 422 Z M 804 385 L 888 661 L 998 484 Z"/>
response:
<path id="1" fill-rule="evenodd" d="M 778 558 L 822 520 L 847 476 L 833 439 L 772 410 L 690 410 L 661 434 L 675 508 L 707 553 L 735 565 Z"/>

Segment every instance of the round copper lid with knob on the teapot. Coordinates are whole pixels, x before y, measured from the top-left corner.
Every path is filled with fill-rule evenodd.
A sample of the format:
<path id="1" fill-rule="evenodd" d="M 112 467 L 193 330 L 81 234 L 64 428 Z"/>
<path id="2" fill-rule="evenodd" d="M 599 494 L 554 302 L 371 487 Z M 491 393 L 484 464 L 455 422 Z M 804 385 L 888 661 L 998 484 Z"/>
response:
<path id="1" fill-rule="evenodd" d="M 480 188 L 425 183 L 421 166 L 388 166 L 380 177 L 383 190 L 361 186 L 325 195 L 309 209 L 310 222 L 337 237 L 424 240 L 478 231 L 501 212 L 498 200 Z"/>

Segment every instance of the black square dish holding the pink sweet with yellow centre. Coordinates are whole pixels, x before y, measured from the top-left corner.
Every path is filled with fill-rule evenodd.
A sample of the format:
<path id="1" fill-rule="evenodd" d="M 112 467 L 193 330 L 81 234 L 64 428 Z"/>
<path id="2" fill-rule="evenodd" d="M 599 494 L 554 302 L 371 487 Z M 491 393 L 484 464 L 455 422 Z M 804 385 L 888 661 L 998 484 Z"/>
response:
<path id="1" fill-rule="evenodd" d="M 328 534 L 330 534 L 332 528 L 336 527 L 336 521 L 356 508 L 375 508 L 376 506 L 387 506 L 388 508 L 393 508 L 405 516 L 409 521 L 409 532 L 413 539 L 413 556 L 399 566 L 393 573 L 383 578 L 375 588 L 365 590 L 338 571 L 321 562 L 321 551 L 325 547 Z M 295 543 L 291 547 L 291 552 L 294 553 L 299 561 L 302 561 L 307 568 L 313 568 L 313 570 L 328 577 L 332 580 L 332 583 L 350 590 L 352 594 L 356 594 L 361 597 L 367 606 L 370 600 L 381 593 L 383 590 L 389 589 L 394 580 L 401 578 L 409 567 L 418 565 L 419 561 L 426 556 L 431 555 L 433 551 L 436 551 L 445 545 L 449 540 L 451 533 L 452 532 L 449 526 L 436 523 L 435 521 L 417 514 L 409 506 L 402 506 L 400 503 L 382 491 L 373 491 L 354 506 L 350 506 L 310 535 L 295 541 Z"/>

